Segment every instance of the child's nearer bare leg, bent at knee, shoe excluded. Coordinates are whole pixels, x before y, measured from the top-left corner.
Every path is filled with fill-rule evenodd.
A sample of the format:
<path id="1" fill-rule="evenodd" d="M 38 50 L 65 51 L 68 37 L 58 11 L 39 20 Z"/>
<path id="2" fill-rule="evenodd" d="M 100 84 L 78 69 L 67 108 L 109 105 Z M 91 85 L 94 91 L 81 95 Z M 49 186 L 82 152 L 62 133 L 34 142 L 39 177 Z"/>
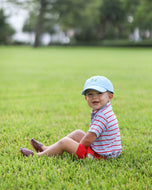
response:
<path id="1" fill-rule="evenodd" d="M 71 135 L 72 136 L 72 135 Z M 46 150 L 43 152 L 37 153 L 38 156 L 44 155 L 61 155 L 64 151 L 75 154 L 78 149 L 79 143 L 73 140 L 70 137 L 64 137 L 63 139 L 59 140 L 55 144 L 47 147 Z"/>

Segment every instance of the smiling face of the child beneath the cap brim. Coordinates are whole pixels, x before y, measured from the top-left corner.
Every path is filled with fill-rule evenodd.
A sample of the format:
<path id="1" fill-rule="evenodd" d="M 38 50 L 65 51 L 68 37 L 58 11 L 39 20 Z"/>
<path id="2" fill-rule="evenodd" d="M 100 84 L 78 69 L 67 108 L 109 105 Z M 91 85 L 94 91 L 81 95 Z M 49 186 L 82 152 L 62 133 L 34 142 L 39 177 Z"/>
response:
<path id="1" fill-rule="evenodd" d="M 88 105 L 95 111 L 101 109 L 104 105 L 111 101 L 113 94 L 110 92 L 98 92 L 96 90 L 87 90 L 85 99 Z"/>

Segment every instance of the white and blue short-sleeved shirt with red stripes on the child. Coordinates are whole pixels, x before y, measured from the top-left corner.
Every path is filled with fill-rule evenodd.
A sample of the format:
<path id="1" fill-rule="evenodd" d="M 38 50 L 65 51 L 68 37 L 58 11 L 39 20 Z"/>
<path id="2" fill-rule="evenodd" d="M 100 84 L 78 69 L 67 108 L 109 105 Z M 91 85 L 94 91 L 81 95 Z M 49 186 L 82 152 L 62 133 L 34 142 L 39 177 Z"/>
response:
<path id="1" fill-rule="evenodd" d="M 91 148 L 97 154 L 111 158 L 120 155 L 122 152 L 120 131 L 110 102 L 100 110 L 92 112 L 89 132 L 97 135 L 91 144 Z"/>

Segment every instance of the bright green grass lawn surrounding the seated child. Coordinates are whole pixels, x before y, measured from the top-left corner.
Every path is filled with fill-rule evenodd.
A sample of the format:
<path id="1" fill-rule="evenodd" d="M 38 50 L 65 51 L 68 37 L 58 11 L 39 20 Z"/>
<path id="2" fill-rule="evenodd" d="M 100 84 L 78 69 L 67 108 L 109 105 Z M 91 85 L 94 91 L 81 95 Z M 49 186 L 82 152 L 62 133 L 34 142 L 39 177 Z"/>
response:
<path id="1" fill-rule="evenodd" d="M 50 145 L 87 132 L 87 78 L 107 76 L 123 153 L 113 160 L 21 157 L 35 137 Z M 152 49 L 0 47 L 0 189 L 152 189 Z"/>

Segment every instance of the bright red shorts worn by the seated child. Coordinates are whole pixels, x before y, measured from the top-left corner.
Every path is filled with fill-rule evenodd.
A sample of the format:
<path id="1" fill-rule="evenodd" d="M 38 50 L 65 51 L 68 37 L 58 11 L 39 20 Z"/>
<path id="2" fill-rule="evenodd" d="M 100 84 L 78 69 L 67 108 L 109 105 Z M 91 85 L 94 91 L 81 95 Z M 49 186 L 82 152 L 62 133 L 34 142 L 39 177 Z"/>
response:
<path id="1" fill-rule="evenodd" d="M 104 156 L 101 156 L 94 152 L 91 147 L 86 147 L 82 144 L 79 144 L 76 155 L 78 156 L 79 159 L 86 158 L 87 154 L 91 154 L 94 158 L 97 159 L 106 159 Z"/>

